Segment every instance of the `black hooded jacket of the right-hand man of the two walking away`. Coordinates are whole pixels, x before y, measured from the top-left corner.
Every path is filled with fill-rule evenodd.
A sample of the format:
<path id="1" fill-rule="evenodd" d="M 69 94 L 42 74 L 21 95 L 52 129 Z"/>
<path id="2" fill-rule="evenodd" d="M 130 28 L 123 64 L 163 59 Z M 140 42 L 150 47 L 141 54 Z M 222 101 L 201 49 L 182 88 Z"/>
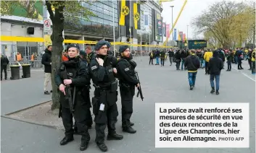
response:
<path id="1" fill-rule="evenodd" d="M 221 69 L 223 69 L 223 62 L 219 58 L 219 52 L 215 51 L 213 53 L 213 57 L 210 58 L 208 63 L 208 69 L 210 70 L 210 74 L 212 75 L 220 75 Z"/>

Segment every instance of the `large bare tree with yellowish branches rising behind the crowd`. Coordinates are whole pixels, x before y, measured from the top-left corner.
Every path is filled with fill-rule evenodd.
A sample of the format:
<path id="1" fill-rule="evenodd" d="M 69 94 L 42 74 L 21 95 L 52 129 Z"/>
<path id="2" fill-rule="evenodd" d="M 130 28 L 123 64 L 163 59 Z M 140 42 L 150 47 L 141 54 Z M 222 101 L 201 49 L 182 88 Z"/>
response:
<path id="1" fill-rule="evenodd" d="M 192 25 L 197 32 L 212 32 L 223 48 L 231 46 L 231 23 L 234 17 L 244 11 L 244 3 L 220 1 L 195 18 Z"/>

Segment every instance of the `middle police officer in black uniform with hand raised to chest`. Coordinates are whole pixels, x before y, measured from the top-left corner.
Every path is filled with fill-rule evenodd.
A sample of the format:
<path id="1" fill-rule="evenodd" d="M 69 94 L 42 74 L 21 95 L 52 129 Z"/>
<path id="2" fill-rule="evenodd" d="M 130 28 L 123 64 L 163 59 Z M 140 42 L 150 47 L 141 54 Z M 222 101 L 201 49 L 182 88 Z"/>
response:
<path id="1" fill-rule="evenodd" d="M 94 97 L 92 98 L 93 112 L 95 115 L 96 144 L 102 152 L 107 152 L 104 143 L 104 129 L 108 128 L 108 140 L 120 140 L 123 136 L 115 131 L 117 122 L 117 70 L 113 65 L 117 58 L 107 55 L 107 43 L 104 40 L 95 45 L 96 56 L 91 59 L 91 78 L 94 82 Z"/>

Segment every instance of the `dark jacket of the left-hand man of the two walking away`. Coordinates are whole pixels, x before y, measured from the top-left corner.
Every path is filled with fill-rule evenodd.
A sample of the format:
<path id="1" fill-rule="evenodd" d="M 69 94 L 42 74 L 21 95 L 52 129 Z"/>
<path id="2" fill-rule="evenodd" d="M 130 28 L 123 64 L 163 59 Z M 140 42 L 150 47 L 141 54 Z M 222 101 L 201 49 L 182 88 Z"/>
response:
<path id="1" fill-rule="evenodd" d="M 199 57 L 195 54 L 188 56 L 185 60 L 184 66 L 188 68 L 188 71 L 197 71 L 200 67 Z"/>

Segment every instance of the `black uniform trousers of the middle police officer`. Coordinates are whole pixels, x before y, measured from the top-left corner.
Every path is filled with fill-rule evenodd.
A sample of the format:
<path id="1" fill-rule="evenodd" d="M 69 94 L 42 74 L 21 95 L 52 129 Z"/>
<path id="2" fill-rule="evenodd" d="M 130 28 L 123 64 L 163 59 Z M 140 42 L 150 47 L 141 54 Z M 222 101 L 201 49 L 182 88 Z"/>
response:
<path id="1" fill-rule="evenodd" d="M 95 122 L 95 130 L 96 130 L 96 139 L 95 141 L 98 143 L 104 142 L 105 139 L 105 128 L 108 128 L 109 134 L 115 134 L 115 123 L 117 123 L 117 91 L 110 92 L 110 91 L 104 91 L 105 94 L 102 94 L 102 92 L 99 94 L 99 97 L 97 97 L 95 94 L 95 97 L 97 99 L 97 102 L 93 102 L 93 109 L 94 109 L 94 122 Z M 95 92 L 94 92 L 95 93 Z M 99 110 L 99 107 L 101 105 L 101 102 L 104 102 L 104 110 Z"/>

